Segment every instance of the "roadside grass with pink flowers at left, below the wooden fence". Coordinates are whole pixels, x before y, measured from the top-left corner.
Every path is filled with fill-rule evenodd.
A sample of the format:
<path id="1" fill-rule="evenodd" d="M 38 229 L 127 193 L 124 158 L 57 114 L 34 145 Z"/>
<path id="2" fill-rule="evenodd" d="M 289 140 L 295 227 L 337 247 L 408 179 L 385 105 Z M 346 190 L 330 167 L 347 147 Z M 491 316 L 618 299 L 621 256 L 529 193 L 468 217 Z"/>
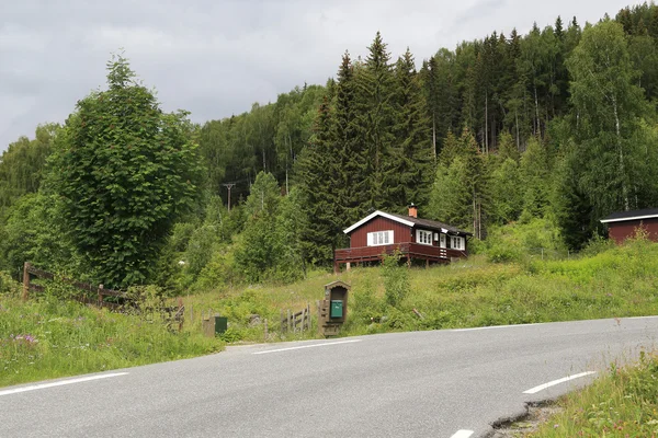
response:
<path id="1" fill-rule="evenodd" d="M 0 297 L 0 387 L 201 356 L 223 345 L 75 301 Z"/>

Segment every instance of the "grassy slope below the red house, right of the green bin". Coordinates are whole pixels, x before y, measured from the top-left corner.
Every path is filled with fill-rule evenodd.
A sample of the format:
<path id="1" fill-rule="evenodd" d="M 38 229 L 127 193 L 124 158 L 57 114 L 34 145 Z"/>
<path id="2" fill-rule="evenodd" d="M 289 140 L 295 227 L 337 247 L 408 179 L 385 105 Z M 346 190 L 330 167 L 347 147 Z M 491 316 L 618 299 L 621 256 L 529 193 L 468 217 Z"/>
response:
<path id="1" fill-rule="evenodd" d="M 300 310 L 306 302 L 315 310 L 315 301 L 324 297 L 324 285 L 338 278 L 352 285 L 342 334 L 353 335 L 655 314 L 656 272 L 658 244 L 634 242 L 580 260 L 491 264 L 475 256 L 450 266 L 412 268 L 410 290 L 397 308 L 385 303 L 378 267 L 339 276 L 314 273 L 290 286 L 208 292 L 185 302 L 196 309 L 195 320 L 198 310 L 208 309 L 228 316 L 228 341 L 260 342 L 263 330 L 249 327 L 251 314 L 268 318 L 270 331 L 276 331 L 281 311 Z M 424 319 L 416 316 L 412 309 Z"/>

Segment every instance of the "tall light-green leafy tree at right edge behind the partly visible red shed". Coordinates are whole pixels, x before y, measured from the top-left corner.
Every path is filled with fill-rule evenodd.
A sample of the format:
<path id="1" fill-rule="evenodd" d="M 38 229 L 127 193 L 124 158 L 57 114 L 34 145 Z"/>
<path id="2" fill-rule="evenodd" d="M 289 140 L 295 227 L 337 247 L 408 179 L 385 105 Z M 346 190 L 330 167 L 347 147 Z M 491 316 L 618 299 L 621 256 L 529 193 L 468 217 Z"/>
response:
<path id="1" fill-rule="evenodd" d="M 600 219 L 614 210 L 648 207 L 656 193 L 654 111 L 637 87 L 621 24 L 586 28 L 567 61 L 571 74 L 574 139 L 582 159 L 580 192 Z"/>

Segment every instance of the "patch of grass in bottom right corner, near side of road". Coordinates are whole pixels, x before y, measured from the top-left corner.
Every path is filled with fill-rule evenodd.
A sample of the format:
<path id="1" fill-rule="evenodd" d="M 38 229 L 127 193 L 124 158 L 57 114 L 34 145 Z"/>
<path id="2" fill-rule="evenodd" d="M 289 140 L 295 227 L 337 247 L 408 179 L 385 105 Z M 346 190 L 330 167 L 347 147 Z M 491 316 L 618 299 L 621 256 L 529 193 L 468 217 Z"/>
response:
<path id="1" fill-rule="evenodd" d="M 558 401 L 563 408 L 531 437 L 658 437 L 658 354 L 612 366 L 591 385 Z"/>

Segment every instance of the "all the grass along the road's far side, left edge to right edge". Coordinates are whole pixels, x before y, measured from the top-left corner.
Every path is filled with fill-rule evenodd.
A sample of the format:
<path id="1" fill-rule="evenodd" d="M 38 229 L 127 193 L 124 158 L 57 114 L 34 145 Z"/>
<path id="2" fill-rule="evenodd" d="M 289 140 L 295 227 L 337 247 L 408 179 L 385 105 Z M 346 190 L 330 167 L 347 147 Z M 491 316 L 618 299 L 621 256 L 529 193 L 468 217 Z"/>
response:
<path id="1" fill-rule="evenodd" d="M 352 285 L 342 335 L 646 315 L 658 310 L 658 244 L 643 241 L 581 260 L 491 264 L 475 256 L 429 269 L 402 267 L 410 287 L 396 308 L 384 299 L 382 269 L 358 268 L 339 276 L 316 272 L 288 286 L 183 297 L 188 313 L 182 335 L 137 316 L 77 303 L 21 303 L 0 296 L 0 385 L 203 355 L 220 349 L 222 341 L 262 342 L 263 326 L 250 324 L 252 314 L 269 320 L 268 341 L 315 337 L 315 330 L 281 334 L 280 312 L 297 311 L 309 302 L 315 314 L 324 285 L 338 278 Z M 229 319 L 223 339 L 201 336 L 202 311 L 211 309 Z"/>

